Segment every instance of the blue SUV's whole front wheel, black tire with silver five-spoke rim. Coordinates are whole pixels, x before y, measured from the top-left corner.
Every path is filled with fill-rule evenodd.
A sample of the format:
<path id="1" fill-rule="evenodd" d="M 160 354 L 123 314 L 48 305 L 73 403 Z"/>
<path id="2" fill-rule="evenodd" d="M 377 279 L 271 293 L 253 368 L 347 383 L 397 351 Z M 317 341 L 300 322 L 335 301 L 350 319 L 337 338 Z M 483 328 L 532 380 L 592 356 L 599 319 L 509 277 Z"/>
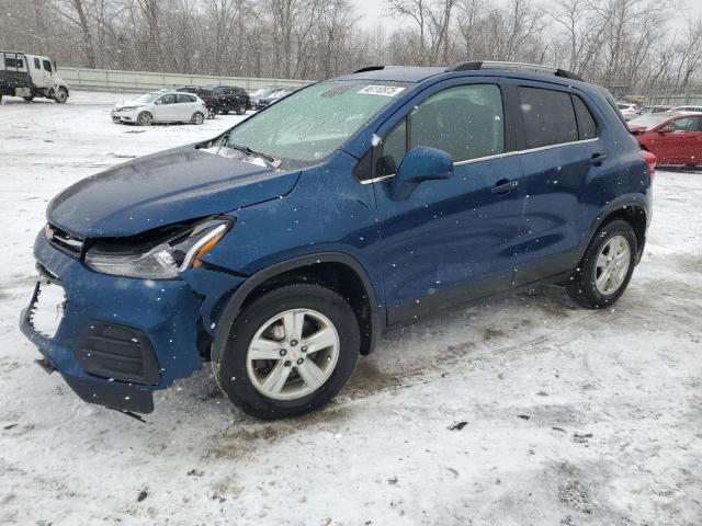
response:
<path id="1" fill-rule="evenodd" d="M 319 285 L 288 285 L 239 313 L 213 369 L 224 393 L 246 413 L 294 416 L 339 392 L 360 342 L 355 315 L 341 296 Z"/>

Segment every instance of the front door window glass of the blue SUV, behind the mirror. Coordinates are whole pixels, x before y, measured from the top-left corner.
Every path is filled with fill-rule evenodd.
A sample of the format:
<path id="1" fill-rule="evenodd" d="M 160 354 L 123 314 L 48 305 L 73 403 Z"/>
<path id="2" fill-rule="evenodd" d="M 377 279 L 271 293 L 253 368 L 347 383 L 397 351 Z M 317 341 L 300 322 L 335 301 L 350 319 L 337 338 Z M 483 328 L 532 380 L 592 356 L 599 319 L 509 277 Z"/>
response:
<path id="1" fill-rule="evenodd" d="M 410 114 L 411 147 L 446 151 L 454 162 L 505 152 L 502 95 L 494 84 L 451 88 Z"/>

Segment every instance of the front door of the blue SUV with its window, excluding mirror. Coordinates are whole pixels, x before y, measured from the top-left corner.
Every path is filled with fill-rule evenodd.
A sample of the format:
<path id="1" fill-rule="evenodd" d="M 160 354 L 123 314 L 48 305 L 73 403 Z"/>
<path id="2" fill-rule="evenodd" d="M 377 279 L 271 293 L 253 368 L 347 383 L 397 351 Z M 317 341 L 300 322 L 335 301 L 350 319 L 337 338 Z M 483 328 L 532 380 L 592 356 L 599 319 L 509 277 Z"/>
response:
<path id="1" fill-rule="evenodd" d="M 506 136 L 498 83 L 453 80 L 411 100 L 381 129 L 374 183 L 383 239 L 388 322 L 395 323 L 512 283 L 522 228 L 522 169 Z M 399 119 L 399 121 L 398 121 Z M 427 181 L 396 201 L 406 151 L 428 146 L 454 161 L 449 180 Z"/>

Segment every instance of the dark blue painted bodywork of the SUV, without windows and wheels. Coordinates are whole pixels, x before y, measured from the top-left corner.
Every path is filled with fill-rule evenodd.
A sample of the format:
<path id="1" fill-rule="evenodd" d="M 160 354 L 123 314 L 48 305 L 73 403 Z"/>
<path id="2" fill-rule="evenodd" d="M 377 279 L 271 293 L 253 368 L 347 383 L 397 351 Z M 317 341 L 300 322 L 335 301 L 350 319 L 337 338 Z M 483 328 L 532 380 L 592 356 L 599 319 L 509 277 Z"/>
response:
<path id="1" fill-rule="evenodd" d="M 205 255 L 206 266 L 157 282 L 94 273 L 39 233 L 35 256 L 60 279 L 67 311 L 53 340 L 26 324 L 24 333 L 63 375 L 103 386 L 106 380 L 87 375 L 73 356 L 79 334 L 93 321 L 137 328 L 163 369 L 160 389 L 201 366 L 199 331 L 214 335 L 228 298 L 248 276 L 282 262 L 344 254 L 364 272 L 374 307 L 394 322 L 416 316 L 415 306 L 432 297 L 467 299 L 571 270 L 599 221 L 623 206 L 638 206 L 650 218 L 646 164 L 600 88 L 536 73 L 441 68 L 344 77 L 359 78 L 415 84 L 316 165 L 273 171 L 188 146 L 59 194 L 48 219 L 81 237 L 128 237 L 213 215 L 234 216 L 236 225 Z M 444 153 L 424 149 L 406 159 L 400 181 L 361 184 L 353 178 L 374 135 L 384 137 L 431 94 L 475 82 L 502 88 L 506 119 L 514 115 L 510 87 L 576 92 L 599 121 L 600 139 L 516 153 L 522 149 L 519 123 L 508 122 L 512 155 L 451 167 Z M 596 153 L 607 158 L 592 163 Z"/>

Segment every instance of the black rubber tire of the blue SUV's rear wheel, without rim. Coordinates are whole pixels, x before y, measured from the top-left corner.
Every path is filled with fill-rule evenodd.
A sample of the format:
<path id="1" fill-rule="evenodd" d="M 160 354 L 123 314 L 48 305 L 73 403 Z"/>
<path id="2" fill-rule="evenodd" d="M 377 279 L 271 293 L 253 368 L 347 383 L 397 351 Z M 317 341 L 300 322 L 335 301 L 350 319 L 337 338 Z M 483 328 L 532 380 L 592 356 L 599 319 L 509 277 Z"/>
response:
<path id="1" fill-rule="evenodd" d="M 621 236 L 629 243 L 629 268 L 618 288 L 610 294 L 603 294 L 598 289 L 596 284 L 598 277 L 597 261 L 600 252 L 615 236 Z M 566 290 L 570 298 L 581 307 L 588 309 L 601 309 L 613 305 L 629 286 L 629 282 L 634 273 L 637 251 L 636 233 L 629 222 L 616 219 L 600 228 L 586 250 L 579 267 L 566 285 Z"/>

